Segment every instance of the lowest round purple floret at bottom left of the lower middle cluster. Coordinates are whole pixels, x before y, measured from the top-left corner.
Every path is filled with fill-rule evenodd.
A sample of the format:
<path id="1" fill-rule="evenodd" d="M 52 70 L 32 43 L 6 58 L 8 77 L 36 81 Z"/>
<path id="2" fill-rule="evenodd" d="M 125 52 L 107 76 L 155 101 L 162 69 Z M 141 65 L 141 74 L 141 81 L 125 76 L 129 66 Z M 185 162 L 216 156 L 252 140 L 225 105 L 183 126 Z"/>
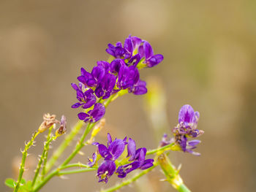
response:
<path id="1" fill-rule="evenodd" d="M 108 183 L 109 177 L 116 171 L 116 164 L 114 161 L 106 160 L 100 164 L 97 177 L 99 177 L 99 182 Z"/>

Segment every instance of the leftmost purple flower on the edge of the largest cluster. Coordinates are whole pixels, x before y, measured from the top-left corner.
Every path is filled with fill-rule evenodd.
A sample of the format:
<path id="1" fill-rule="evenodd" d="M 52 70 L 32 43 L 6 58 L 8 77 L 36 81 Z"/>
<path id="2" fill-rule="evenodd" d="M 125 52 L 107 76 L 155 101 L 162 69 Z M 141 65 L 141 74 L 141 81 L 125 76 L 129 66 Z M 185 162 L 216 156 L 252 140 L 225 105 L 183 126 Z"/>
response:
<path id="1" fill-rule="evenodd" d="M 78 103 L 75 103 L 72 105 L 72 108 L 78 108 L 80 106 L 83 107 L 83 109 L 87 109 L 90 108 L 91 106 L 93 106 L 96 102 L 96 96 L 94 96 L 94 91 L 91 90 L 91 88 L 85 92 L 83 92 L 83 85 L 81 85 L 81 83 L 79 83 L 79 87 L 78 85 L 75 85 L 75 83 L 72 83 L 72 88 L 75 89 L 75 91 L 77 91 L 77 99 L 78 99 Z"/>

